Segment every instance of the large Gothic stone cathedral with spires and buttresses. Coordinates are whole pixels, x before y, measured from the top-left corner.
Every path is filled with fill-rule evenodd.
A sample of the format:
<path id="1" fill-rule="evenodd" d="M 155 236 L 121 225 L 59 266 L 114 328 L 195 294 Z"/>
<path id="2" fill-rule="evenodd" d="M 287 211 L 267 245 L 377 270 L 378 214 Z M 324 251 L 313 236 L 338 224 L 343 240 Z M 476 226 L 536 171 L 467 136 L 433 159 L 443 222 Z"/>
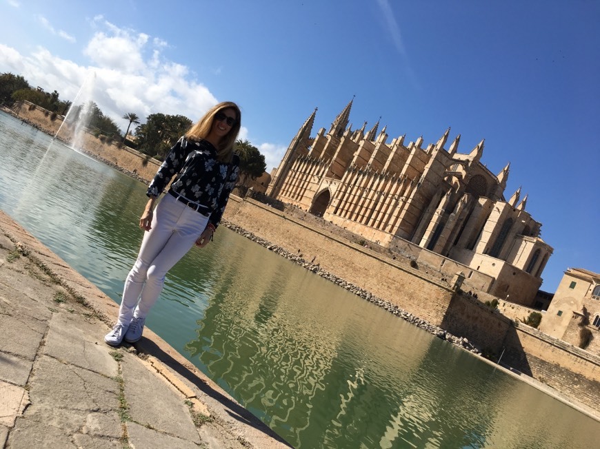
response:
<path id="1" fill-rule="evenodd" d="M 390 249 L 412 242 L 429 250 L 428 263 L 454 260 L 468 278 L 489 278 L 489 293 L 533 304 L 552 247 L 521 189 L 504 198 L 510 164 L 497 175 L 481 164 L 483 140 L 469 154 L 457 152 L 460 136 L 445 149 L 450 129 L 426 148 L 422 137 L 386 143 L 379 122 L 352 130 L 351 107 L 315 137 L 316 110 L 310 115 L 274 169 L 268 196 Z"/>

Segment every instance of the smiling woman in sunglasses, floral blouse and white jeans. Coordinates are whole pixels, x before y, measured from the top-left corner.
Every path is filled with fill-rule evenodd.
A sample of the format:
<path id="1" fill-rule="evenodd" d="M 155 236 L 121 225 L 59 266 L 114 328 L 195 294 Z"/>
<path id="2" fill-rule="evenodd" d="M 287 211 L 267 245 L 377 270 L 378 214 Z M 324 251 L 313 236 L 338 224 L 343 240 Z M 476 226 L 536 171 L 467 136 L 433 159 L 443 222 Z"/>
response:
<path id="1" fill-rule="evenodd" d="M 171 148 L 150 182 L 139 219 L 146 231 L 123 289 L 119 319 L 105 337 L 110 346 L 141 339 L 146 316 L 161 293 L 167 271 L 196 244 L 204 247 L 219 226 L 239 172 L 233 145 L 241 112 L 232 102 L 212 107 Z M 154 202 L 172 182 L 168 194 Z"/>

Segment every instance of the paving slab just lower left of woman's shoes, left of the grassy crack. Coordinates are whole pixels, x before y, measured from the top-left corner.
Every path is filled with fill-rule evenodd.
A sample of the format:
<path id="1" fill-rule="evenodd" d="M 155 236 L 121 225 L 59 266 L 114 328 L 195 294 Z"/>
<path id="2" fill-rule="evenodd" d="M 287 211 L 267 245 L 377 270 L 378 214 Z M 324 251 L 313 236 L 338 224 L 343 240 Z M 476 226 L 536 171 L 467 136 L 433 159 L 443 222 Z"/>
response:
<path id="1" fill-rule="evenodd" d="M 110 355 L 109 346 L 101 342 L 100 327 L 98 322 L 88 322 L 81 315 L 54 313 L 43 353 L 61 362 L 115 377 L 119 374 L 119 364 Z"/>

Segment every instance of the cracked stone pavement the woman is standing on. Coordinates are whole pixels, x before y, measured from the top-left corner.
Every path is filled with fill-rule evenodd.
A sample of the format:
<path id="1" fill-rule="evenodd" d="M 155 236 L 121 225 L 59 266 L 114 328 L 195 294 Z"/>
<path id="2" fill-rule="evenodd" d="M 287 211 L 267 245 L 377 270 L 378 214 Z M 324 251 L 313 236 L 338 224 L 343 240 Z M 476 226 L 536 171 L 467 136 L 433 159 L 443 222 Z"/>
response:
<path id="1" fill-rule="evenodd" d="M 107 346 L 116 314 L 0 211 L 2 447 L 290 447 L 150 329 Z"/>

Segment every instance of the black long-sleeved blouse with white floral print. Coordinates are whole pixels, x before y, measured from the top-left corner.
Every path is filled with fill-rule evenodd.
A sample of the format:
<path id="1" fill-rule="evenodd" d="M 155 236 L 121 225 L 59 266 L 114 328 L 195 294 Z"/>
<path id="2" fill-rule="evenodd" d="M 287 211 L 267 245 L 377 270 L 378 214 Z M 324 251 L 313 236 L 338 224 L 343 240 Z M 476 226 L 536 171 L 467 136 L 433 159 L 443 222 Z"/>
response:
<path id="1" fill-rule="evenodd" d="M 234 154 L 230 164 L 221 163 L 212 143 L 182 137 L 170 149 L 146 195 L 159 196 L 174 174 L 171 190 L 210 208 L 208 221 L 219 226 L 239 174 L 239 156 Z"/>

